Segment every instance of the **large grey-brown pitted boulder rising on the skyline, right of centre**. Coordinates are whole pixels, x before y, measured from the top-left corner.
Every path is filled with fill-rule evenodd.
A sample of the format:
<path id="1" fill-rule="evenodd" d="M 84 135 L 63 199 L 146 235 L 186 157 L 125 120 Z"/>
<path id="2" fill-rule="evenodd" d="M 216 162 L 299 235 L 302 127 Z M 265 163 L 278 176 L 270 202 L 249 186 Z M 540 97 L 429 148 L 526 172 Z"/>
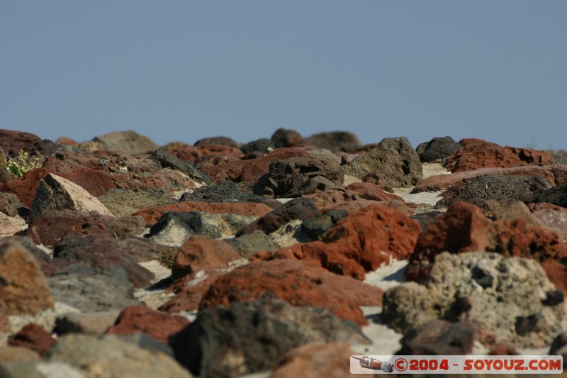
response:
<path id="1" fill-rule="evenodd" d="M 422 177 L 420 157 L 408 138 L 385 138 L 364 155 L 343 165 L 343 172 L 361 179 L 380 172 L 391 187 L 412 187 Z"/>

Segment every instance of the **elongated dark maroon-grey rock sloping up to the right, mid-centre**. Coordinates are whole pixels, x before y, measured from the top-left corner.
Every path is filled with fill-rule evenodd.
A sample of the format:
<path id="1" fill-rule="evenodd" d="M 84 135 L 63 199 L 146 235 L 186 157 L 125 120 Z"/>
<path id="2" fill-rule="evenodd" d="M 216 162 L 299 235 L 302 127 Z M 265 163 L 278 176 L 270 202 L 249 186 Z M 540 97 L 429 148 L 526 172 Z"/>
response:
<path id="1" fill-rule="evenodd" d="M 318 215 L 319 211 L 310 199 L 293 199 L 293 201 L 286 202 L 277 209 L 274 209 L 274 211 L 262 216 L 262 218 L 259 218 L 257 221 L 240 229 L 236 235 L 240 236 L 253 233 L 255 230 L 262 230 L 264 233 L 272 233 L 289 221 L 293 221 L 293 219 L 305 221 L 305 219 L 313 218 Z"/>

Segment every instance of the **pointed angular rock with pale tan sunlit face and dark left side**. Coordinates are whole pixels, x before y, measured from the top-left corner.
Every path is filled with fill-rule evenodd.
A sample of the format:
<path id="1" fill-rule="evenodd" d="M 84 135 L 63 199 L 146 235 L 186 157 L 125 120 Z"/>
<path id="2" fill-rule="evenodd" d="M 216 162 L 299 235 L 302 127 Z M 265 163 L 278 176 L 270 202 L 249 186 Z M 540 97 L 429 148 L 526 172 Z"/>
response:
<path id="1" fill-rule="evenodd" d="M 101 215 L 112 213 L 88 191 L 74 182 L 47 174 L 38 184 L 30 210 L 30 223 L 45 216 L 54 216 L 63 210 L 96 211 Z"/>

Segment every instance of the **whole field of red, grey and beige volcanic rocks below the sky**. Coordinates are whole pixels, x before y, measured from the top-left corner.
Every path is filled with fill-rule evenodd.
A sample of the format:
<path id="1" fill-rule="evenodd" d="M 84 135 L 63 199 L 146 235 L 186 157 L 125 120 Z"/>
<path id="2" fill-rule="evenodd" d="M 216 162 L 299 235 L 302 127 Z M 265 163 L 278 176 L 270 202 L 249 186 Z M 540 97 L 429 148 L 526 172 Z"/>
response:
<path id="1" fill-rule="evenodd" d="M 565 152 L 283 129 L 162 147 L 0 130 L 0 148 L 0 377 L 567 357 Z M 38 162 L 16 178 L 19 150 Z"/>

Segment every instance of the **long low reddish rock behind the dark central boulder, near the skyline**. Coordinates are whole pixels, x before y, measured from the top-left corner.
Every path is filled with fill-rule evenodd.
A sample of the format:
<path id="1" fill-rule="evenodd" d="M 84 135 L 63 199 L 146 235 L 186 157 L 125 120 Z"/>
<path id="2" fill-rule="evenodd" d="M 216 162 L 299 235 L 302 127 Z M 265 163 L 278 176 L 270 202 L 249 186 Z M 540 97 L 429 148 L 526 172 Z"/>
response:
<path id="1" fill-rule="evenodd" d="M 255 182 L 269 172 L 269 165 L 274 160 L 288 157 L 305 156 L 308 152 L 297 148 L 278 148 L 268 155 L 257 159 L 240 160 L 232 157 L 214 157 L 197 162 L 195 167 L 206 174 L 211 181 Z"/>

